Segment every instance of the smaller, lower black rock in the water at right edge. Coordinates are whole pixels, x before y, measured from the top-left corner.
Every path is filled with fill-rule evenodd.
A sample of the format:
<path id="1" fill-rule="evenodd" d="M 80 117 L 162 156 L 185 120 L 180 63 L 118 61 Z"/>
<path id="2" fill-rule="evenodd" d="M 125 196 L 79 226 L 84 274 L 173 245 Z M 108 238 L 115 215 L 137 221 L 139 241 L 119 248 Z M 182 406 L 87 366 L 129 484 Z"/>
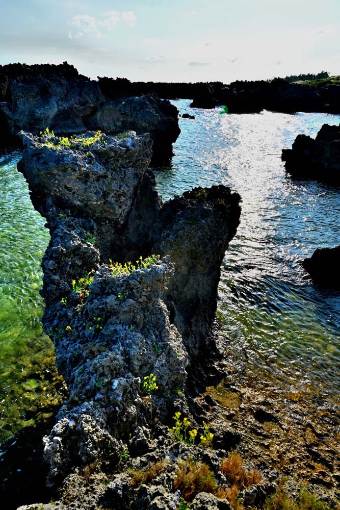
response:
<path id="1" fill-rule="evenodd" d="M 331 289 L 340 289 L 339 264 L 340 246 L 318 248 L 310 258 L 302 262 L 302 266 L 315 282 Z"/>

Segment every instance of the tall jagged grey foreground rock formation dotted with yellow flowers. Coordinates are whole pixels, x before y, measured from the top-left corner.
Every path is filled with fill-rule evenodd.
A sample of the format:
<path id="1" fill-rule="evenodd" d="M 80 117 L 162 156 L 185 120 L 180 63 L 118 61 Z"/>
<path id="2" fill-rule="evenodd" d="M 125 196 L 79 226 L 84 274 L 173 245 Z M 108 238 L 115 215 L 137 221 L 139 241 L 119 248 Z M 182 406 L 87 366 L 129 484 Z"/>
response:
<path id="1" fill-rule="evenodd" d="M 196 188 L 163 205 L 147 170 L 148 135 L 89 132 L 62 143 L 46 133 L 21 137 L 18 169 L 51 235 L 42 263 L 43 326 L 70 392 L 44 438 L 48 483 L 63 485 L 61 508 L 69 501 L 101 507 L 105 498 L 125 508 L 129 476 L 114 475 L 122 458 L 130 455 L 136 466 L 163 458 L 172 463 L 165 493 L 141 486 L 135 508 L 152 501 L 176 508 L 174 459 L 184 454 L 173 451 L 167 424 L 174 409 L 191 416 L 188 373 L 214 348 L 220 265 L 239 223 L 240 196 L 224 186 Z M 140 257 L 145 262 L 135 263 Z M 124 272 L 110 259 L 137 268 Z M 144 391 L 150 374 L 156 392 Z M 195 453 L 200 461 L 203 451 Z M 218 470 L 225 451 L 216 455 Z M 95 483 L 106 476 L 112 483 L 85 503 L 86 469 Z"/>

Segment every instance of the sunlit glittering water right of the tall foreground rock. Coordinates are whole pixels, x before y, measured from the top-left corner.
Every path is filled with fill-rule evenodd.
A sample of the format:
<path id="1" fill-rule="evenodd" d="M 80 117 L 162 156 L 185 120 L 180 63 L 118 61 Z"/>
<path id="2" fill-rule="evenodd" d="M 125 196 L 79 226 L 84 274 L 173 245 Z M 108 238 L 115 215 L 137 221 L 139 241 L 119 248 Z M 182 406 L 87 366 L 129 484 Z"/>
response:
<path id="1" fill-rule="evenodd" d="M 338 402 L 340 293 L 312 285 L 300 261 L 340 244 L 340 188 L 294 181 L 281 149 L 315 137 L 338 115 L 221 114 L 176 100 L 180 119 L 171 165 L 156 171 L 164 199 L 193 186 L 225 184 L 242 196 L 241 223 L 222 265 L 218 317 L 232 363 L 282 392 Z"/>

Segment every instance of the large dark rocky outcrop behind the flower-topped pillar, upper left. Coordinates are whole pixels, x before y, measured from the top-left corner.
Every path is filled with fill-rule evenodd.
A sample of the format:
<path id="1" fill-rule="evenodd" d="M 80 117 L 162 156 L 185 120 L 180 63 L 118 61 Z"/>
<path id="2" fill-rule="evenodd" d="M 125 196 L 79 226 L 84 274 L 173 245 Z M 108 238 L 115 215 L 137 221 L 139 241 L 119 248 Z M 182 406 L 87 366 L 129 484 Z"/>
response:
<path id="1" fill-rule="evenodd" d="M 56 134 L 101 130 L 109 134 L 134 130 L 150 133 L 154 160 L 172 156 L 180 130 L 177 109 L 154 94 L 118 93 L 90 80 L 64 62 L 61 65 L 0 66 L 2 136 L 20 130 Z"/>

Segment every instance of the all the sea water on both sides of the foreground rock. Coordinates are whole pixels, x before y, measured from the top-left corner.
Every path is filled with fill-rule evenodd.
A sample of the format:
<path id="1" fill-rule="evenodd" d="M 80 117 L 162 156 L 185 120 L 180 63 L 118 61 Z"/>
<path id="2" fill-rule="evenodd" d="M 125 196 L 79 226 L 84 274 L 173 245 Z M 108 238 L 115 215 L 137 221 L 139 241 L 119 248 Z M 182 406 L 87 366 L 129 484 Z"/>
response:
<path id="1" fill-rule="evenodd" d="M 242 196 L 241 223 L 230 242 L 218 291 L 220 338 L 246 377 L 282 391 L 340 396 L 340 293 L 313 285 L 300 262 L 317 247 L 340 244 L 340 188 L 292 179 L 282 148 L 304 133 L 315 137 L 339 116 L 261 112 L 180 113 L 181 134 L 169 165 L 155 168 L 163 200 L 196 186 L 224 184 Z M 48 372 L 53 344 L 42 333 L 40 262 L 49 236 L 34 211 L 19 151 L 0 155 L 0 441 L 56 400 Z M 40 418 L 41 418 L 40 416 Z"/>

